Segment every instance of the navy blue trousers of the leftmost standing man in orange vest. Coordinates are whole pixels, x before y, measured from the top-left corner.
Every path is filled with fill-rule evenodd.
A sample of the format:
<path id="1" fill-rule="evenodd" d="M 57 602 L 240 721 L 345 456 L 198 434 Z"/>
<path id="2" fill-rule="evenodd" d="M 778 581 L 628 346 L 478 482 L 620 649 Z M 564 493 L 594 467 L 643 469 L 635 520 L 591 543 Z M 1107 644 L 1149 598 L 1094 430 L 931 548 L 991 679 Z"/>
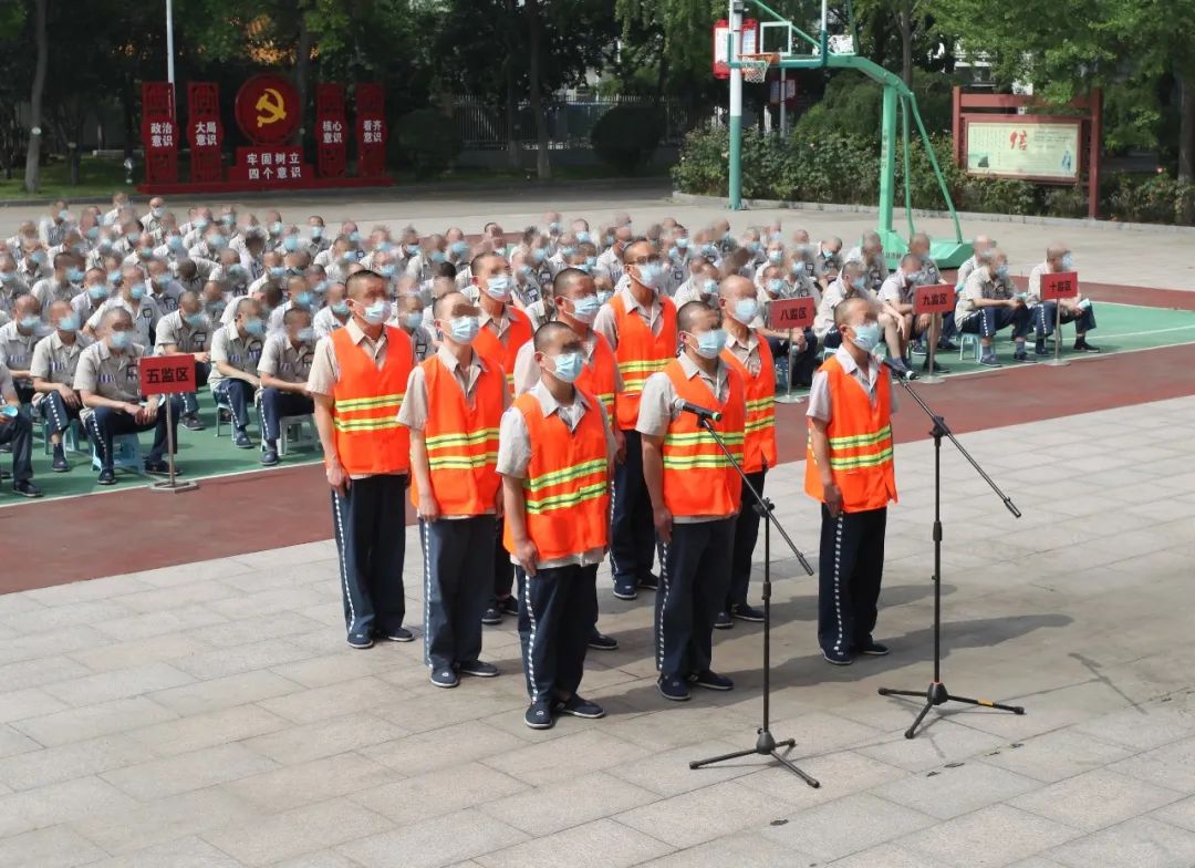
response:
<path id="1" fill-rule="evenodd" d="M 402 626 L 406 616 L 406 476 L 354 479 L 347 495 L 332 489 L 332 530 L 341 555 L 341 597 L 349 635 Z"/>

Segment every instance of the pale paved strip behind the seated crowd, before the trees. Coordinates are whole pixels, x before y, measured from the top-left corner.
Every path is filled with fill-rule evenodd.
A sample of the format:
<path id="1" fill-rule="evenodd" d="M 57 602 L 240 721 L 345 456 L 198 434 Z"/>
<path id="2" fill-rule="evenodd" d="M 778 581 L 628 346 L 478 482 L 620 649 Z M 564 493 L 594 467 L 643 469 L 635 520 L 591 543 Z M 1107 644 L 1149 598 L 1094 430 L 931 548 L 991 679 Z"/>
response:
<path id="1" fill-rule="evenodd" d="M 617 183 L 617 182 L 615 182 Z M 838 234 L 847 246 L 856 243 L 860 232 L 876 226 L 874 214 L 835 214 L 801 210 L 728 212 L 721 206 L 681 204 L 670 201 L 668 184 L 630 184 L 625 187 L 570 187 L 525 190 L 509 188 L 473 190 L 468 192 L 428 192 L 417 198 L 396 198 L 386 195 L 364 197 L 329 195 L 306 198 L 246 200 L 244 209 L 259 215 L 278 207 L 282 216 L 299 225 L 308 214 L 321 214 L 329 225 L 341 220 L 356 220 L 362 227 L 382 222 L 398 230 L 413 224 L 423 232 L 440 232 L 448 226 L 460 226 L 466 232 L 479 232 L 490 220 L 496 220 L 508 232 L 528 225 L 543 225 L 544 212 L 556 209 L 568 218 L 583 216 L 594 228 L 609 221 L 615 212 L 630 213 L 638 226 L 646 227 L 663 216 L 675 216 L 695 231 L 715 220 L 727 218 L 737 232 L 747 226 L 768 224 L 779 219 L 785 231 L 804 227 L 815 238 Z M 168 200 L 178 213 L 185 213 L 194 202 L 172 196 Z M 143 198 L 139 200 L 143 204 Z M 45 208 L 10 207 L 0 209 L 0 224 L 13 227 L 27 219 L 37 219 Z M 897 210 L 896 228 L 905 232 L 907 224 Z M 918 227 L 936 238 L 952 238 L 949 220 L 919 220 Z M 1046 245 L 1055 238 L 1067 242 L 1074 250 L 1080 279 L 1126 286 L 1195 289 L 1195 245 L 1189 236 L 1178 236 L 1164 228 L 1115 232 L 1105 228 L 1050 227 L 1032 224 L 1009 224 L 970 220 L 963 222 L 966 238 L 988 233 L 1009 253 L 1012 274 L 1027 275 L 1044 258 Z"/>

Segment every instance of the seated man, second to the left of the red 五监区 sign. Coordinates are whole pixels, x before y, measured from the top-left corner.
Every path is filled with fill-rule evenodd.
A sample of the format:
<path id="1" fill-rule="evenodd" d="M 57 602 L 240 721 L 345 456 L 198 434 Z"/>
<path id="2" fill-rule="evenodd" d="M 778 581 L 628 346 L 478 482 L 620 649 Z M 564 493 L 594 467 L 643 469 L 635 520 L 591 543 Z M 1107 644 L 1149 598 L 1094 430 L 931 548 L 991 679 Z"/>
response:
<path id="1" fill-rule="evenodd" d="M 30 373 L 37 391 L 33 409 L 49 426 L 50 442 L 54 445 L 50 470 L 65 473 L 71 470 L 71 465 L 67 464 L 62 446 L 62 432 L 71 427 L 72 420 L 79 418 L 82 410 L 82 398 L 74 390 L 74 375 L 79 356 L 92 341 L 79 334 L 79 317 L 66 301 L 50 305 L 50 324 L 54 331 L 33 347 Z"/>

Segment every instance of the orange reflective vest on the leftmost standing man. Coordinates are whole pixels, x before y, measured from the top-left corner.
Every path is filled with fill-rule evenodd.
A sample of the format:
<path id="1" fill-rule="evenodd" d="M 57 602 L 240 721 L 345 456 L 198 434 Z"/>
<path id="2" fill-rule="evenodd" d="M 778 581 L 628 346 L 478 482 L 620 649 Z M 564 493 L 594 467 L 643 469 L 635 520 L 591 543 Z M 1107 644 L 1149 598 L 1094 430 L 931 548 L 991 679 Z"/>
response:
<path id="1" fill-rule="evenodd" d="M 341 378 L 332 390 L 336 453 L 350 476 L 406 473 L 411 467 L 410 432 L 398 423 L 398 408 L 411 374 L 411 340 L 386 326 L 381 368 L 353 342 L 348 329 L 332 332 Z"/>

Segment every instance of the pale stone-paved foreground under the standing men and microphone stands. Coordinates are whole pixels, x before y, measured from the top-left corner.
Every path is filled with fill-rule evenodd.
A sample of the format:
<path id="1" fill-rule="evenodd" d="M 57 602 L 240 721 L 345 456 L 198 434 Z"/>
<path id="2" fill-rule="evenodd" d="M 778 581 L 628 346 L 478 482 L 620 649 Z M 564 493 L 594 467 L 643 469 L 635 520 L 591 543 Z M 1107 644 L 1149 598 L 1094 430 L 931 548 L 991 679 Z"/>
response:
<path id="1" fill-rule="evenodd" d="M 0 597 L 0 866 L 1190 866 L 1193 428 L 1182 398 L 967 435 L 1019 521 L 948 445 L 945 681 L 1023 717 L 952 707 L 908 741 L 914 707 L 876 696 L 930 678 L 929 441 L 897 447 L 890 658 L 825 665 L 778 552 L 773 729 L 819 790 L 688 770 L 753 742 L 760 630 L 717 636 L 735 691 L 667 703 L 649 603 L 605 573 L 623 647 L 583 690 L 611 714 L 547 733 L 509 625 L 485 637 L 503 677 L 453 691 L 418 644 L 347 648 L 330 543 Z M 802 470 L 768 489 L 815 555 Z"/>

